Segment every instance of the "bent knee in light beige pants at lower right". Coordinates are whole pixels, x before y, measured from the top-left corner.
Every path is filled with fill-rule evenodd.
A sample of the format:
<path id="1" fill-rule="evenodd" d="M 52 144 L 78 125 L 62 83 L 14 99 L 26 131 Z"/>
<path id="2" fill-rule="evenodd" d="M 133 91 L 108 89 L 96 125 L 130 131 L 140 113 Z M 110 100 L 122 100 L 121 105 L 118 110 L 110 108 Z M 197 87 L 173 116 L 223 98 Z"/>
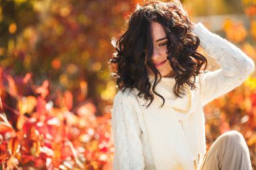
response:
<path id="1" fill-rule="evenodd" d="M 247 170 L 251 168 L 249 149 L 242 134 L 228 131 L 210 147 L 200 170 Z"/>

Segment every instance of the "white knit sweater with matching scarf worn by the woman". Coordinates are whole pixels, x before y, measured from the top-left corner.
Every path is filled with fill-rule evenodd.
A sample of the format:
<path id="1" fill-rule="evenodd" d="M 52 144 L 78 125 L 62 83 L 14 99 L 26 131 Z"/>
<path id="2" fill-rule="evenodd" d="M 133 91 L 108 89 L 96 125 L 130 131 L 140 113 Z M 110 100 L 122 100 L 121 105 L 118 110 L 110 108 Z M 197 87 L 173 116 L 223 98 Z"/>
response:
<path id="1" fill-rule="evenodd" d="M 200 46 L 217 59 L 221 69 L 197 77 L 197 88 L 177 98 L 174 78 L 162 78 L 146 109 L 138 91 L 115 96 L 112 125 L 115 154 L 113 169 L 195 169 L 206 153 L 203 105 L 233 90 L 254 70 L 254 62 L 240 49 L 211 33 L 199 23 L 193 29 Z M 153 78 L 150 76 L 150 80 Z M 198 155 L 200 155 L 198 157 Z M 198 163 L 199 162 L 199 163 Z"/>

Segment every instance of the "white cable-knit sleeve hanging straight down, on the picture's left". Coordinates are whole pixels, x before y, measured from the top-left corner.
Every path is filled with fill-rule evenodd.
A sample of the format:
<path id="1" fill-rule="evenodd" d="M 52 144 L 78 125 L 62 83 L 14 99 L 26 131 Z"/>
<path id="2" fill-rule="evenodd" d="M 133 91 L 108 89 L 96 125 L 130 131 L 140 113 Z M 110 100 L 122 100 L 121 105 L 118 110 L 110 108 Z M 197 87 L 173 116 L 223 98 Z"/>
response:
<path id="1" fill-rule="evenodd" d="M 114 98 L 112 128 L 114 134 L 113 169 L 144 169 L 142 130 L 138 125 L 138 103 L 132 92 L 119 91 Z"/>

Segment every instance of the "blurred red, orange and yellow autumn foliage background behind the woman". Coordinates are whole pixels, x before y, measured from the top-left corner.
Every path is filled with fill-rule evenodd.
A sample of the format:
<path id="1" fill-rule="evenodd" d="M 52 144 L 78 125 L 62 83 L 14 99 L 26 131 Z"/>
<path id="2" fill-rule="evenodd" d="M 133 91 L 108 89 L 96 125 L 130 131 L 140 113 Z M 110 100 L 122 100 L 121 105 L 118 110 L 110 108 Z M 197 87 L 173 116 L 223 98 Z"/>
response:
<path id="1" fill-rule="evenodd" d="M 141 0 L 0 1 L 1 169 L 112 169 L 113 37 Z M 181 1 L 255 61 L 255 0 Z M 209 58 L 209 70 L 219 68 Z M 255 73 L 204 107 L 207 146 L 237 130 L 256 168 Z"/>

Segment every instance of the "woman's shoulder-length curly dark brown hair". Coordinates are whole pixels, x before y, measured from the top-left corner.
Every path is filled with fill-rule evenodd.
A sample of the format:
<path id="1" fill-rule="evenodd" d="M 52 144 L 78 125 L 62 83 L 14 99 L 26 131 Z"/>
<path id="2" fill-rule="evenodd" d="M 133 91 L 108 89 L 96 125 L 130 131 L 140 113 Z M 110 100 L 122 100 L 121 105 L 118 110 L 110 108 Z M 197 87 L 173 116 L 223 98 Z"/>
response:
<path id="1" fill-rule="evenodd" d="M 118 39 L 114 39 L 116 52 L 110 59 L 110 68 L 112 75 L 117 78 L 120 90 L 137 88 L 139 97 L 150 100 L 147 107 L 154 100 L 155 94 L 163 99 L 160 106 L 162 107 L 164 97 L 155 91 L 162 76 L 151 60 L 154 49 L 152 22 L 162 25 L 166 32 L 166 54 L 176 74 L 173 91 L 177 97 L 185 95 L 185 84 L 190 86 L 191 90 L 196 88 L 196 76 L 200 75 L 200 70 L 207 67 L 207 59 L 197 52 L 199 37 L 192 33 L 191 20 L 179 1 L 149 1 L 137 6 L 128 20 L 127 31 Z M 146 47 L 147 57 L 144 52 Z M 148 68 L 155 75 L 152 84 L 148 78 Z"/>

